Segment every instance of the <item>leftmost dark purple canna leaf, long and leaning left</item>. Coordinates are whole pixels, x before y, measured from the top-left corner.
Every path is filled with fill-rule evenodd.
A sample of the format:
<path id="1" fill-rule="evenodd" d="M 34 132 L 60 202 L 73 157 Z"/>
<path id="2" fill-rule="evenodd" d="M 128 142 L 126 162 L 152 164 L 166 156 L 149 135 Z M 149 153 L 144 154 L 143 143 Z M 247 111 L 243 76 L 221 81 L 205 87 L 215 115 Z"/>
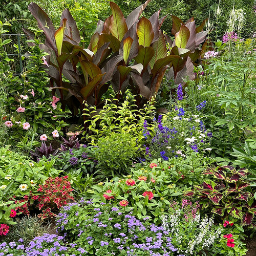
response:
<path id="1" fill-rule="evenodd" d="M 35 3 L 30 3 L 28 6 L 29 11 L 35 17 L 38 23 L 39 29 L 44 31 L 46 36 L 46 46 L 53 49 L 57 54 L 57 47 L 55 43 L 55 29 L 51 19 L 48 15 Z"/>

